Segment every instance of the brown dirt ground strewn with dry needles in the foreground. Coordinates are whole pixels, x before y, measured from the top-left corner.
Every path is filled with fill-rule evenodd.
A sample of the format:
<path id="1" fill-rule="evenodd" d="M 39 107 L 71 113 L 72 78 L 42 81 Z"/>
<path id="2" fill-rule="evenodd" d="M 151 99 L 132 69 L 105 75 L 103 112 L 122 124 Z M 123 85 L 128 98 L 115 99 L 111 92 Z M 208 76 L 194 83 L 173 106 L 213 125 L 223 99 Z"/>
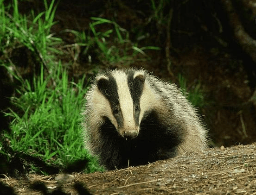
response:
<path id="1" fill-rule="evenodd" d="M 10 186 L 9 195 L 255 195 L 256 143 L 103 173 L 6 177 L 0 185 L 0 193 L 3 185 Z"/>

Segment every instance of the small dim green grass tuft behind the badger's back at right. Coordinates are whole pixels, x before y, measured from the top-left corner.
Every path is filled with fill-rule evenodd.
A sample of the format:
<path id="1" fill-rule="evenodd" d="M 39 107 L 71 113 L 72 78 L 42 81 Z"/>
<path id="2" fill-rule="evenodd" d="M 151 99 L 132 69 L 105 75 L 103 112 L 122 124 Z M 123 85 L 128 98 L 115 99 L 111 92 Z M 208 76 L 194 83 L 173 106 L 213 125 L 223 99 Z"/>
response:
<path id="1" fill-rule="evenodd" d="M 193 88 L 188 89 L 186 84 L 186 79 L 182 75 L 178 75 L 179 86 L 183 90 L 183 93 L 186 94 L 187 99 L 195 107 L 203 107 L 205 105 L 204 96 L 201 90 L 200 82 L 196 83 Z"/>

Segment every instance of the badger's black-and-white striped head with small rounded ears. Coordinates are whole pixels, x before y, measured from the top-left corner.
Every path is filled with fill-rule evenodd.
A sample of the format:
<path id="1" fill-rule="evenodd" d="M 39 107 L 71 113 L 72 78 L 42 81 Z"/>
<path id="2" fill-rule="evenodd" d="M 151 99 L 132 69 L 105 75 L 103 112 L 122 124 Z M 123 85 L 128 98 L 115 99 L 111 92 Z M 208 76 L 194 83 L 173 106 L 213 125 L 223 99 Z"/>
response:
<path id="1" fill-rule="evenodd" d="M 94 108 L 102 119 L 111 121 L 123 138 L 136 138 L 139 134 L 144 83 L 142 70 L 114 70 L 96 77 Z"/>

